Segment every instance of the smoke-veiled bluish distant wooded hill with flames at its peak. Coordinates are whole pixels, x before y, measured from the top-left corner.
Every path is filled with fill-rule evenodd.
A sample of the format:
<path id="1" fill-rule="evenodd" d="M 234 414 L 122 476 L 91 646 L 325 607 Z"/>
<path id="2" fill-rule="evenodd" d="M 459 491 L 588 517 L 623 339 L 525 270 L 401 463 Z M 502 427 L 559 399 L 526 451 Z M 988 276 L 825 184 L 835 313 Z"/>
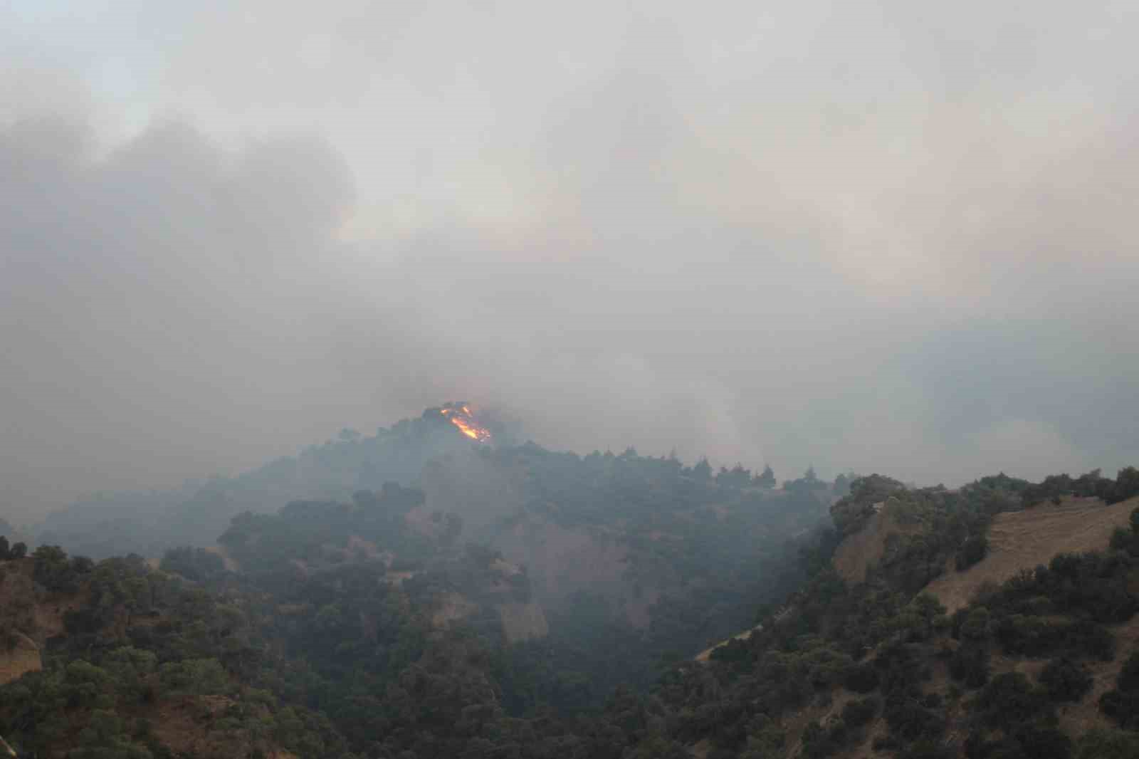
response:
<path id="1" fill-rule="evenodd" d="M 357 524 L 355 538 L 382 532 L 399 544 L 388 553 L 401 563 L 424 541 L 489 546 L 525 568 L 536 604 L 508 626 L 511 639 L 559 631 L 563 625 L 549 625 L 552 614 L 600 614 L 656 642 L 631 644 L 644 659 L 682 655 L 749 623 L 757 603 L 794 581 L 785 561 L 790 536 L 825 520 L 847 487 L 846 476 L 829 483 L 809 472 L 777 488 L 770 468 L 715 472 L 706 460 L 686 466 L 632 449 L 582 457 L 511 446 L 508 430 L 481 418 L 490 426 L 475 442 L 452 424 L 457 409 L 467 407 L 427 409 L 372 438 L 345 432 L 232 480 L 77 504 L 52 515 L 39 541 L 95 558 L 158 557 L 179 545 L 220 542 L 240 561 L 235 541 L 243 530 L 272 523 L 285 504 L 351 504 L 393 485 L 413 488 L 417 499 L 392 515 L 399 524 Z M 483 444 L 492 434 L 495 443 Z M 298 533 L 327 528 L 304 521 L 298 509 L 285 509 L 281 524 Z M 282 546 L 293 539 L 284 528 L 273 530 Z M 647 670 L 637 669 L 644 682 Z"/>

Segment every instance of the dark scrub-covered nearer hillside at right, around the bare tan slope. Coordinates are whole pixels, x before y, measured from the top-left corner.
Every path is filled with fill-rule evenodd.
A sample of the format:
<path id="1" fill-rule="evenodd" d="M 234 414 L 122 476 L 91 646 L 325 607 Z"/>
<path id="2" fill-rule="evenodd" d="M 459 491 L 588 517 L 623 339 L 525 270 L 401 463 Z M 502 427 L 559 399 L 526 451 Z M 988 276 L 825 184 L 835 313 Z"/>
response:
<path id="1" fill-rule="evenodd" d="M 804 556 L 811 579 L 755 632 L 665 675 L 656 694 L 674 716 L 670 737 L 747 759 L 1139 756 L 1136 475 L 1000 475 L 957 491 L 857 481 L 831 509 L 835 541 L 891 524 L 882 550 L 844 579 L 831 561 L 842 550 L 820 546 Z M 1130 515 L 1100 550 L 983 583 L 952 614 L 925 590 L 984 560 L 995 515 L 1031 520 L 1041 499 L 1096 496 Z"/>

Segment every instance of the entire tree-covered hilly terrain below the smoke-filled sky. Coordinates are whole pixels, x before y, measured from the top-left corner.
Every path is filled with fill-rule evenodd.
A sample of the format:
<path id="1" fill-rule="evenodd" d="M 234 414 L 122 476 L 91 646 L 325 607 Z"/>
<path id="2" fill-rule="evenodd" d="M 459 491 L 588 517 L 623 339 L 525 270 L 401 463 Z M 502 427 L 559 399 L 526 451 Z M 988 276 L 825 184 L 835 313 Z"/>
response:
<path id="1" fill-rule="evenodd" d="M 76 759 L 1136 756 L 1136 470 L 776 488 L 452 439 L 419 487 L 241 512 L 161 560 L 0 541 L 0 734 Z M 951 612 L 931 593 L 1008 554 L 994 524 L 1073 504 L 1120 524 L 1073 544 L 1098 550 Z"/>

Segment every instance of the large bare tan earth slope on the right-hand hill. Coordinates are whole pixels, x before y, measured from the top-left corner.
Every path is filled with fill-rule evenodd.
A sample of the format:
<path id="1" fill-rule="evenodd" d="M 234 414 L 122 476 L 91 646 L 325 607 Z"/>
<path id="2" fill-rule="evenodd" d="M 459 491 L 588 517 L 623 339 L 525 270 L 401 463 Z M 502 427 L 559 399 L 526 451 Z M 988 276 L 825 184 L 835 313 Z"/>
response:
<path id="1" fill-rule="evenodd" d="M 1056 554 L 1106 548 L 1112 531 L 1126 527 L 1136 506 L 1139 498 L 1111 506 L 1097 498 L 1070 498 L 998 514 L 989 529 L 989 555 L 964 572 L 948 566 L 926 590 L 953 613 L 969 603 L 982 582 L 999 585 L 1022 569 L 1047 564 Z"/>

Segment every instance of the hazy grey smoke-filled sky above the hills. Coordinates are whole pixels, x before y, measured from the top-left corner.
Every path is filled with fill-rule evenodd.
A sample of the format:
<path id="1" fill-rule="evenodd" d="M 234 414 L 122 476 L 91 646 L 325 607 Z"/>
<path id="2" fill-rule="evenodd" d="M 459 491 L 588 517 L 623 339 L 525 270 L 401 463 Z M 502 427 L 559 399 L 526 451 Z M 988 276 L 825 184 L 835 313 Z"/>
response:
<path id="1" fill-rule="evenodd" d="M 450 399 L 921 482 L 1139 463 L 1139 7 L 0 7 L 0 513 Z"/>

